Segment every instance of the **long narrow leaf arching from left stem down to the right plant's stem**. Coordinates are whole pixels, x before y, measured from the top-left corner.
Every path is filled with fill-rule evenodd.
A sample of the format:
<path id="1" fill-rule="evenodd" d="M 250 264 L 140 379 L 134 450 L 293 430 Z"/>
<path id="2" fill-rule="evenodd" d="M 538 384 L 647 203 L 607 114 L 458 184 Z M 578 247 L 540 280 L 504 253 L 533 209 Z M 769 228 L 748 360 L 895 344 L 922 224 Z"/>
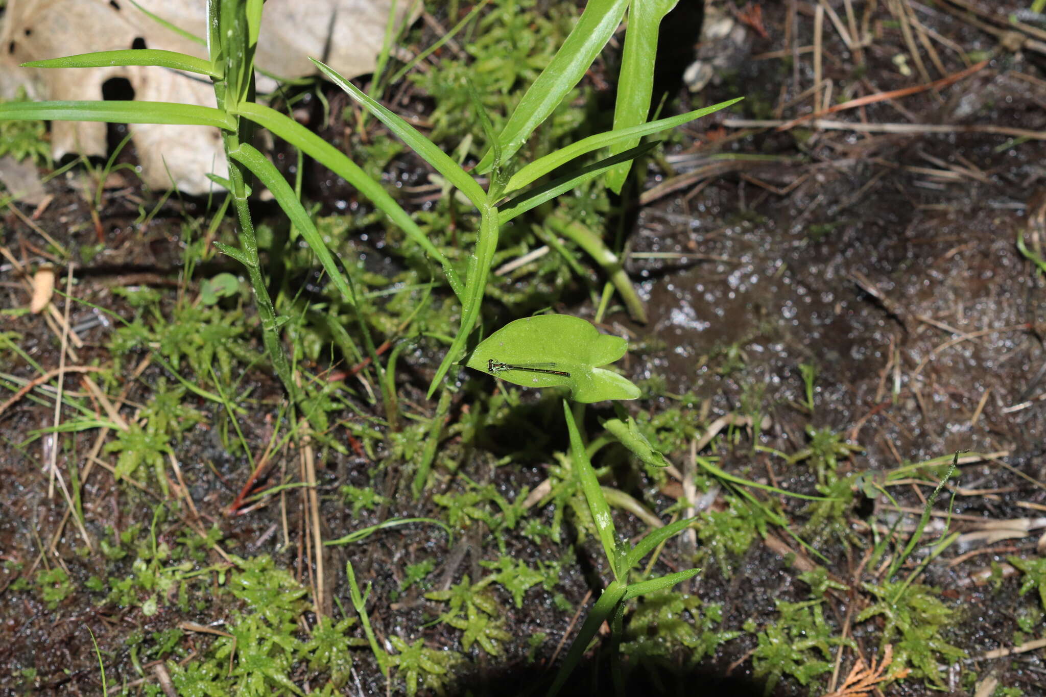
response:
<path id="1" fill-rule="evenodd" d="M 410 217 L 410 214 L 389 195 L 380 182 L 368 177 L 363 169 L 334 145 L 275 109 L 253 101 L 244 101 L 240 103 L 236 111 L 241 116 L 268 129 L 355 186 L 360 193 L 367 196 L 374 206 L 388 215 L 392 223 L 399 226 L 408 237 L 425 250 L 426 254 L 439 262 L 454 295 L 459 299 L 462 297 L 464 292 L 461 279 L 454 271 L 454 266 L 451 265 L 450 259 L 429 240 Z"/>

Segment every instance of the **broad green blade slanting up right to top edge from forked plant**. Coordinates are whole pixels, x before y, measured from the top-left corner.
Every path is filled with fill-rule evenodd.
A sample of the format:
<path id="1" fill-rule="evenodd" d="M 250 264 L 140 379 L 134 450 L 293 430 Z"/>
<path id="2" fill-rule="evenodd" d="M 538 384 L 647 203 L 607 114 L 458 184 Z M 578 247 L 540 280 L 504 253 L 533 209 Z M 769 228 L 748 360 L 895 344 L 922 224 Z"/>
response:
<path id="1" fill-rule="evenodd" d="M 621 23 L 629 0 L 589 0 L 570 36 L 555 52 L 523 98 L 508 122 L 501 131 L 503 161 L 515 155 L 533 130 L 548 118 L 570 90 L 581 82 L 592 62 L 610 41 Z M 488 150 L 476 168 L 486 172 L 494 162 L 494 152 Z"/>

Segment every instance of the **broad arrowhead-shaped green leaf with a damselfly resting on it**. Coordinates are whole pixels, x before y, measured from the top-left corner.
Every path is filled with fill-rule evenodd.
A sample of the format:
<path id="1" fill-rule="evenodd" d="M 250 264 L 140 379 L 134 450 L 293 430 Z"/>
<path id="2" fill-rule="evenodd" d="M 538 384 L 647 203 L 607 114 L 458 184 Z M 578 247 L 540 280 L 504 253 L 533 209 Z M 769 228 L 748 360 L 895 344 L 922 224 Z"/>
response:
<path id="1" fill-rule="evenodd" d="M 628 378 L 599 368 L 620 358 L 627 349 L 628 342 L 623 339 L 601 334 L 581 318 L 539 315 L 509 322 L 495 331 L 475 348 L 465 365 L 523 387 L 566 386 L 578 402 L 636 399 L 639 388 Z M 500 368 L 523 364 L 544 364 L 531 368 L 553 372 Z"/>

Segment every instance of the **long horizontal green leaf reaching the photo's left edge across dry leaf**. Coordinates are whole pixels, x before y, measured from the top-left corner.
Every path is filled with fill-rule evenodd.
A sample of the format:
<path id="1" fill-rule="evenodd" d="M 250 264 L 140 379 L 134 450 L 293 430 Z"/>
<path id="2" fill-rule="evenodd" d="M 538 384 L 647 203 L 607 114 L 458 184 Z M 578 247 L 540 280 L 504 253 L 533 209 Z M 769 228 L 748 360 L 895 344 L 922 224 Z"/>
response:
<path id="1" fill-rule="evenodd" d="M 0 104 L 0 120 L 22 119 L 183 123 L 236 130 L 236 120 L 220 109 L 174 101 L 8 101 Z"/>

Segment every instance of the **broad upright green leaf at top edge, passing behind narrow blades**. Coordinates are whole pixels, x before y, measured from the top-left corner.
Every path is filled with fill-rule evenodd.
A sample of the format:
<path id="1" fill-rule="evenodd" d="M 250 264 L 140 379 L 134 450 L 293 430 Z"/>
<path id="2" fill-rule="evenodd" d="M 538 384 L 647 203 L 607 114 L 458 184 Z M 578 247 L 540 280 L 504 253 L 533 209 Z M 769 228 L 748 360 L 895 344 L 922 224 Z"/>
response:
<path id="1" fill-rule="evenodd" d="M 635 0 L 629 7 L 629 29 L 624 34 L 621 70 L 617 77 L 617 101 L 614 104 L 614 130 L 646 121 L 654 91 L 654 62 L 661 20 L 676 6 L 677 0 Z M 633 147 L 632 138 L 610 148 L 611 155 Z M 607 173 L 607 188 L 621 192 L 631 162 L 623 162 Z"/>

